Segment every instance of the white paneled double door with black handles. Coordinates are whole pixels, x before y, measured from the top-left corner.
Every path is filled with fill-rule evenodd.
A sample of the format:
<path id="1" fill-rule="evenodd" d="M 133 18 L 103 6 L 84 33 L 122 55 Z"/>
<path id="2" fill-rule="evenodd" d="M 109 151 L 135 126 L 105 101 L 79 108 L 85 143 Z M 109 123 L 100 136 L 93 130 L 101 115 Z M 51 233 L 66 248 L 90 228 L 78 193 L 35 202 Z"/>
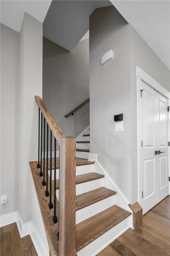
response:
<path id="1" fill-rule="evenodd" d="M 168 100 L 140 81 L 139 203 L 146 213 L 168 195 Z M 140 192 L 139 192 L 140 193 Z"/>

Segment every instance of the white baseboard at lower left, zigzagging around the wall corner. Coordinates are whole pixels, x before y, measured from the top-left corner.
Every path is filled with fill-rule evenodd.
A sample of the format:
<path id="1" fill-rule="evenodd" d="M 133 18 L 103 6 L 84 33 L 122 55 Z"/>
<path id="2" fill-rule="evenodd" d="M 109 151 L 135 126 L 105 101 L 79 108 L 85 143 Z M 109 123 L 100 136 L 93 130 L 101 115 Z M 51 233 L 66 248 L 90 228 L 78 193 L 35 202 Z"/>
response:
<path id="1" fill-rule="evenodd" d="M 49 252 L 44 246 L 42 239 L 32 221 L 23 223 L 19 211 L 7 213 L 0 216 L 0 227 L 4 227 L 14 222 L 16 222 L 17 224 L 21 238 L 30 235 L 39 256 L 49 256 Z"/>

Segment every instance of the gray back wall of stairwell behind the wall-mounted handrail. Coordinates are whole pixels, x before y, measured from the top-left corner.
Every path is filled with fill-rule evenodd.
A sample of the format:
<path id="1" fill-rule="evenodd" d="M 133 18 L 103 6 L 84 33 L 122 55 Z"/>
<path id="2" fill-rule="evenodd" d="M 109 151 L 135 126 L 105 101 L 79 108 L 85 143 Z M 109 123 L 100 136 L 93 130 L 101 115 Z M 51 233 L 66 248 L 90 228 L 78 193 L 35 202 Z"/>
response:
<path id="1" fill-rule="evenodd" d="M 71 51 L 43 38 L 42 98 L 66 136 L 77 137 L 89 126 L 89 103 L 64 115 L 89 97 L 89 40 Z"/>

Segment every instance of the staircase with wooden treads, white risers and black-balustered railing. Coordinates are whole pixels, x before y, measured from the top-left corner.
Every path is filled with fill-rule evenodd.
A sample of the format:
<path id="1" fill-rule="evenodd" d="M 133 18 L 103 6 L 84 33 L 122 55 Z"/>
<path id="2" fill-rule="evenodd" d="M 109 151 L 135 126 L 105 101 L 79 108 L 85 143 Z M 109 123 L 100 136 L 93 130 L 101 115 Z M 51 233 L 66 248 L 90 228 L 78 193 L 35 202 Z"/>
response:
<path id="1" fill-rule="evenodd" d="M 49 114 L 42 99 L 38 97 L 36 101 L 43 114 L 44 123 L 41 115 L 41 125 L 39 122 L 40 159 L 38 162 L 31 162 L 30 167 L 50 255 L 73 256 L 76 253 L 81 256 L 94 255 L 95 251 L 101 247 L 104 248 L 105 244 L 114 239 L 116 234 L 122 232 L 123 223 L 131 212 L 115 204 L 117 192 L 104 186 L 107 184 L 105 175 L 95 172 L 94 161 L 75 158 L 74 147 L 71 147 L 71 141 L 74 142 L 74 140 L 62 136 L 61 130 Z M 42 146 L 45 151 L 45 143 L 42 143 L 42 126 L 44 124 L 43 127 L 45 127 L 45 121 L 47 127 L 50 128 L 49 158 L 47 151 L 46 157 L 44 152 L 42 154 Z M 55 154 L 57 151 L 56 129 L 61 136 L 61 140 L 58 140 L 60 157 L 56 157 Z M 52 133 L 54 135 L 54 157 L 51 153 Z M 48 141 L 47 135 L 46 139 Z M 65 142 L 63 143 L 62 140 Z M 45 136 L 43 141 L 45 142 Z M 48 142 L 45 145 L 48 149 Z M 89 148 L 86 145 L 88 147 L 90 145 L 89 130 L 76 141 L 76 153 L 88 154 Z M 74 159 L 76 160 L 75 167 Z M 47 190 L 49 194 L 46 194 Z"/>

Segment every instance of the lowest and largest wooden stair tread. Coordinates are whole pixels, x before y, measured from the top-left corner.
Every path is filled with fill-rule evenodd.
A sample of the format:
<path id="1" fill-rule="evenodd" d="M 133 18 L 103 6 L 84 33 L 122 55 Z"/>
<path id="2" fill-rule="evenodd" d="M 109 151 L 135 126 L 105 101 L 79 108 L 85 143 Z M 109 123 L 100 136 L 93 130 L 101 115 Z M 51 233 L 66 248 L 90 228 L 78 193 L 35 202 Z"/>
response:
<path id="1" fill-rule="evenodd" d="M 130 216 L 127 210 L 114 205 L 76 225 L 76 251 L 103 235 Z"/>

